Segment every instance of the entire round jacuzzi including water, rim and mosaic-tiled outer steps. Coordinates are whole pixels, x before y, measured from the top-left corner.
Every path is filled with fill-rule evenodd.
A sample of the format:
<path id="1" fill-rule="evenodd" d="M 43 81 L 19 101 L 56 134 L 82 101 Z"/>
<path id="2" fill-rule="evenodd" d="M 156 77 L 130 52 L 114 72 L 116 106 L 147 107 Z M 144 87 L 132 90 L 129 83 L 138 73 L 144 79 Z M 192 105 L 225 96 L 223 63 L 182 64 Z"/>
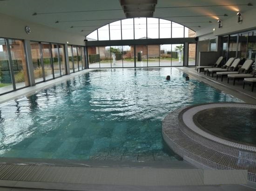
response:
<path id="1" fill-rule="evenodd" d="M 162 122 L 167 145 L 199 168 L 240 169 L 256 182 L 256 105 L 207 103 L 169 113 Z"/>

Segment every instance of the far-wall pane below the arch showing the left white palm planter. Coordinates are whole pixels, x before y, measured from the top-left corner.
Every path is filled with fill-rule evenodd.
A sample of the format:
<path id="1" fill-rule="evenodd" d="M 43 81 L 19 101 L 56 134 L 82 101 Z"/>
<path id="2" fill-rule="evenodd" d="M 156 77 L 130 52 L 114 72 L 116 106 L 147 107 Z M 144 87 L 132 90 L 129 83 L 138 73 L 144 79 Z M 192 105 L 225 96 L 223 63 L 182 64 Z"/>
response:
<path id="1" fill-rule="evenodd" d="M 123 67 L 122 46 L 111 46 L 110 47 L 110 55 L 111 55 L 112 68 Z"/>

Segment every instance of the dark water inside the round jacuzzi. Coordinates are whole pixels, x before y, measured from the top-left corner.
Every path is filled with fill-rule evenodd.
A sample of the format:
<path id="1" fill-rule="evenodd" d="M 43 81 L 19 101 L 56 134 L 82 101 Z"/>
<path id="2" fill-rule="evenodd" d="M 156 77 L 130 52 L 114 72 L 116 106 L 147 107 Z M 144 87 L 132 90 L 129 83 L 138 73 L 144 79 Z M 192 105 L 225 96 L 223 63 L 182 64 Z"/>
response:
<path id="1" fill-rule="evenodd" d="M 210 108 L 195 114 L 193 120 L 198 127 L 222 139 L 256 146 L 256 109 Z"/>

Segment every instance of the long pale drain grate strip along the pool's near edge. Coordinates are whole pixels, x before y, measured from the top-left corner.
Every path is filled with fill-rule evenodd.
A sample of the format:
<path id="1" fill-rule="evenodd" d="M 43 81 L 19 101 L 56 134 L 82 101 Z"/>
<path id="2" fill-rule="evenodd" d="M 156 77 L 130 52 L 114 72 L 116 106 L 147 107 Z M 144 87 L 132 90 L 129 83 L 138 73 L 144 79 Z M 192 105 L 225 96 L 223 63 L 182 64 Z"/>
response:
<path id="1" fill-rule="evenodd" d="M 0 164 L 0 180 L 108 185 L 203 185 L 203 171 Z"/>

